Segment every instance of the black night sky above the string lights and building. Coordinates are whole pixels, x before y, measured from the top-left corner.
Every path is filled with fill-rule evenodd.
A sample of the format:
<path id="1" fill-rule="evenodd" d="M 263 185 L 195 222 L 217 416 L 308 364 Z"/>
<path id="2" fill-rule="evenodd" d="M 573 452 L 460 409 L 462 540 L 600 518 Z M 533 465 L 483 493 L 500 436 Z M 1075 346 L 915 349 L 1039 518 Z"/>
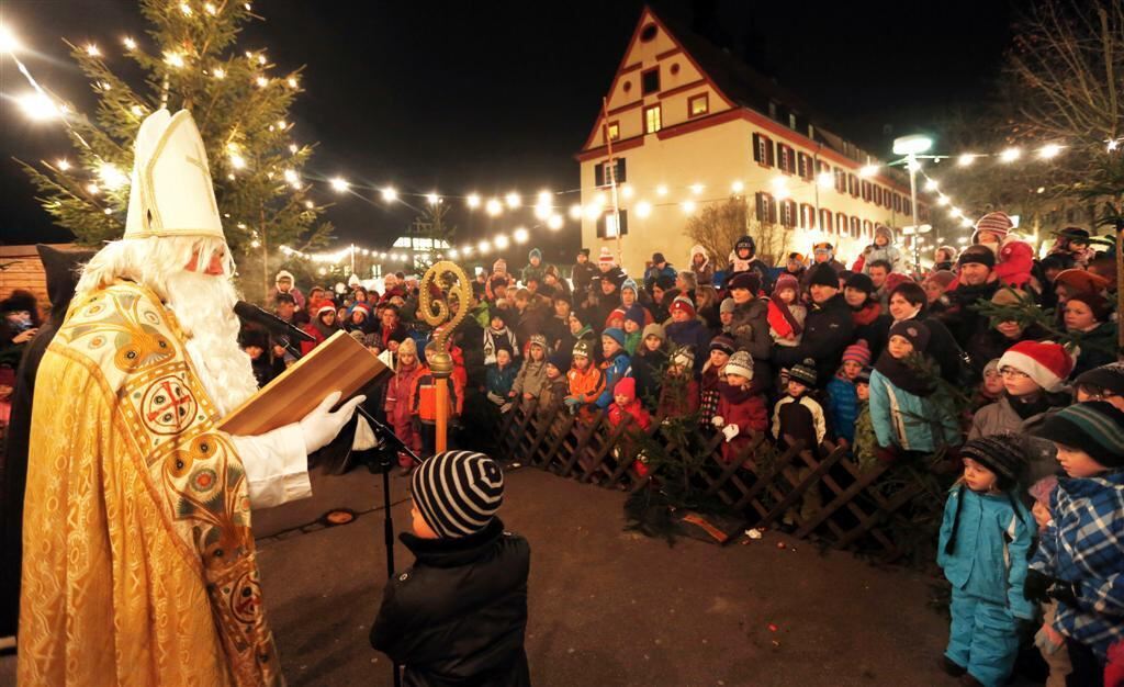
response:
<path id="1" fill-rule="evenodd" d="M 573 153 L 642 7 L 637 0 L 259 1 L 254 10 L 266 20 L 251 25 L 239 47 L 268 48 L 279 71 L 307 65 L 306 92 L 291 116 L 299 141 L 320 142 L 307 171 L 416 192 L 487 196 L 517 188 L 528 196 L 577 188 Z M 833 118 L 841 133 L 886 156 L 892 135 L 988 97 L 1013 18 L 1001 0 L 671 0 L 656 7 L 744 55 Z M 0 16 L 36 51 L 22 55 L 33 73 L 80 103 L 92 96 L 60 38 L 93 40 L 111 63 L 124 62 L 120 37 L 144 28 L 128 0 L 0 0 Z M 0 91 L 26 90 L 3 58 Z M 66 145 L 58 125 L 30 125 L 10 100 L 0 101 L 2 243 L 67 238 L 11 160 L 53 159 Z M 413 213 L 381 205 L 342 200 L 328 217 L 341 239 L 384 246 Z M 460 241 L 515 223 L 489 227 L 481 215 L 462 215 L 456 224 Z M 577 241 L 572 226 L 568 250 Z M 562 241 L 544 247 L 559 250 Z M 547 257 L 561 259 L 554 250 Z"/>

